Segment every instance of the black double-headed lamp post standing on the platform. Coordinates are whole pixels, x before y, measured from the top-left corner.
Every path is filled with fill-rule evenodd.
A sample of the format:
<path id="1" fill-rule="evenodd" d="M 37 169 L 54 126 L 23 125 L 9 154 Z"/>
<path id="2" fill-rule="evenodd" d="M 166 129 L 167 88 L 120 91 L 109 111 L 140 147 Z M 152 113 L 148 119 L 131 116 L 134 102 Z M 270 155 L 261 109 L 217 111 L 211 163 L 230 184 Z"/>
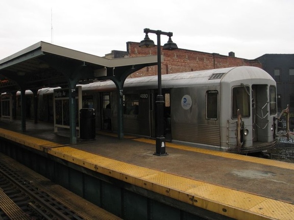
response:
<path id="1" fill-rule="evenodd" d="M 153 33 L 157 35 L 157 76 L 158 76 L 158 95 L 156 96 L 156 152 L 154 155 L 165 156 L 168 155 L 165 151 L 165 137 L 164 137 L 164 97 L 161 90 L 161 46 L 160 46 L 160 36 L 168 36 L 167 43 L 164 44 L 162 49 L 164 50 L 174 50 L 178 49 L 176 43 L 171 41 L 173 36 L 172 32 L 162 32 L 150 29 L 144 29 L 145 38 L 139 43 L 139 47 L 150 48 L 154 47 L 154 41 L 150 40 L 148 34 Z"/>

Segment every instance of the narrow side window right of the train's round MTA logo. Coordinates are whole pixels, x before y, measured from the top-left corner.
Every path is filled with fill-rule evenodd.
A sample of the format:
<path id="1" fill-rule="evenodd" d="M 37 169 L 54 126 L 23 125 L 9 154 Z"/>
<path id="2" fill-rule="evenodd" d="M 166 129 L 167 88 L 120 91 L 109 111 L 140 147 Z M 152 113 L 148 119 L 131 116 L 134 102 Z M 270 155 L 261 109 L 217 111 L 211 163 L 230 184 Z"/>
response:
<path id="1" fill-rule="evenodd" d="M 216 120 L 218 118 L 218 92 L 206 92 L 206 119 Z"/>

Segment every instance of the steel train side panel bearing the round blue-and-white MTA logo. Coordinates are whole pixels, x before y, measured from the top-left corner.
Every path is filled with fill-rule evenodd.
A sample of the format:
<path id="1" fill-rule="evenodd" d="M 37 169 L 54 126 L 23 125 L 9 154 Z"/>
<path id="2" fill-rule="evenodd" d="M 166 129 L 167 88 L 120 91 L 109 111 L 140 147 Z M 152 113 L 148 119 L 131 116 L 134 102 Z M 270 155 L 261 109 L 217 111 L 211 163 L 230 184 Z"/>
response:
<path id="1" fill-rule="evenodd" d="M 208 145 L 207 147 L 210 146 L 213 149 L 219 148 L 219 116 L 216 116 L 215 119 L 208 119 L 206 116 L 207 91 L 218 93 L 218 90 L 218 86 L 174 88 L 171 90 L 170 112 L 173 140 Z M 183 103 L 183 99 L 188 100 Z M 219 112 L 219 105 L 217 108 L 217 112 Z"/>

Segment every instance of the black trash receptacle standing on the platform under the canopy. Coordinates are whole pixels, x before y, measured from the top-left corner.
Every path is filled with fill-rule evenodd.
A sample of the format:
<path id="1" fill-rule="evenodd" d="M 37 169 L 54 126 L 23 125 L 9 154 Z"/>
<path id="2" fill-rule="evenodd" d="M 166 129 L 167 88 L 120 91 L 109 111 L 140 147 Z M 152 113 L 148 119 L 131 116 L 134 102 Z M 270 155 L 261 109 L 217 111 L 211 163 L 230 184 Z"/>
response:
<path id="1" fill-rule="evenodd" d="M 95 109 L 80 109 L 80 139 L 94 139 L 95 129 Z"/>

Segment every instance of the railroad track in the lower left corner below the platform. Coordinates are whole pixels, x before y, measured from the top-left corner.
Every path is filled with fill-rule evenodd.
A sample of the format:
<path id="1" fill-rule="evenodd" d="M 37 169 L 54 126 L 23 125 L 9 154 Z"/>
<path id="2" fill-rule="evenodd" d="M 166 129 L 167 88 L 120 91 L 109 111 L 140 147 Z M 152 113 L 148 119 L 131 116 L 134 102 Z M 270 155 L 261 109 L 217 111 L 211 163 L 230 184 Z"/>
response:
<path id="1" fill-rule="evenodd" d="M 120 218 L 0 154 L 0 219 Z"/>

